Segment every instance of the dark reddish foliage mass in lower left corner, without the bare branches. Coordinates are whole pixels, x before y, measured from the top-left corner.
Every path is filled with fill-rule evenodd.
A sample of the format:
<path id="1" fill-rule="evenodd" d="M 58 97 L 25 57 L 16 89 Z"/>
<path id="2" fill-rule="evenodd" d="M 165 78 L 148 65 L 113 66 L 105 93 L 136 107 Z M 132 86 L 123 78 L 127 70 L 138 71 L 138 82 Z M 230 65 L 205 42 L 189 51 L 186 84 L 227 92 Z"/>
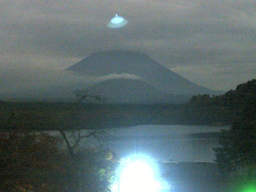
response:
<path id="1" fill-rule="evenodd" d="M 60 138 L 45 133 L 1 133 L 1 191 L 109 191 L 115 166 L 111 152 L 82 148 L 71 157 L 60 144 Z"/>

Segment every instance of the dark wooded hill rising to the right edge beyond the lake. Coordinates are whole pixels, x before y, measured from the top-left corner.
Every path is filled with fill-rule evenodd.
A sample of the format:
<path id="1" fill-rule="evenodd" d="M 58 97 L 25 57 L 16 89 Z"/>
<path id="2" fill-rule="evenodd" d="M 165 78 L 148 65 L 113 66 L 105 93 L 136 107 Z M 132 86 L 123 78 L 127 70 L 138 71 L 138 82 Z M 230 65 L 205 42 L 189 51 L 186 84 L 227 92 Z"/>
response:
<path id="1" fill-rule="evenodd" d="M 230 90 L 224 95 L 193 96 L 182 116 L 190 124 L 232 124 L 242 116 L 253 116 L 256 113 L 255 105 L 256 79 L 240 84 L 236 90 Z"/>

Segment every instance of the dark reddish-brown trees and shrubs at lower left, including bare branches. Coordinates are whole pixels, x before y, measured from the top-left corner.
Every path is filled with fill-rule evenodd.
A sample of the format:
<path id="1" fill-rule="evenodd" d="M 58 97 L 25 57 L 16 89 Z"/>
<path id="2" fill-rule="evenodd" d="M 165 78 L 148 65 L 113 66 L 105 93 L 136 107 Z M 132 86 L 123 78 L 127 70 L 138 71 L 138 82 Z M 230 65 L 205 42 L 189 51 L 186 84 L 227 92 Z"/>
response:
<path id="1" fill-rule="evenodd" d="M 83 93 L 83 92 L 82 92 Z M 84 92 L 85 93 L 85 92 Z M 93 95 L 84 96 L 83 99 Z M 100 100 L 98 96 L 94 97 Z M 82 99 L 82 100 L 83 100 Z M 79 102 L 82 101 L 81 99 Z M 72 105 L 74 112 L 75 105 Z M 10 111 L 8 122 L 16 131 L 0 133 L 0 189 L 8 192 L 104 192 L 110 190 L 115 162 L 111 151 L 86 148 L 85 138 L 103 137 L 103 130 L 83 132 L 76 122 L 67 121 L 67 114 L 49 115 L 48 124 L 61 137 L 44 132 L 31 132 L 38 121 L 29 124 L 29 112 Z M 17 118 L 21 116 L 25 118 Z M 28 126 L 29 125 L 29 126 Z M 44 125 L 44 124 L 43 124 Z M 68 132 L 68 128 L 76 128 Z M 24 131 L 27 130 L 27 131 Z M 65 148 L 66 146 L 66 148 Z"/>

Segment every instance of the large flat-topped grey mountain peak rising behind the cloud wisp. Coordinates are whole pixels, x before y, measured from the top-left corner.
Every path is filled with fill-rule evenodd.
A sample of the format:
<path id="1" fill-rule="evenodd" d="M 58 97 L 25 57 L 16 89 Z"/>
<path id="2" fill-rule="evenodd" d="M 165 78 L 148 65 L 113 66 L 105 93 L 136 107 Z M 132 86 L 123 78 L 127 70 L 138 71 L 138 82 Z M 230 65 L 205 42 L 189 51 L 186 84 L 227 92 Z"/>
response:
<path id="1" fill-rule="evenodd" d="M 146 54 L 132 51 L 96 52 L 66 70 L 85 76 L 135 74 L 162 92 L 176 95 L 219 94 L 162 66 Z"/>

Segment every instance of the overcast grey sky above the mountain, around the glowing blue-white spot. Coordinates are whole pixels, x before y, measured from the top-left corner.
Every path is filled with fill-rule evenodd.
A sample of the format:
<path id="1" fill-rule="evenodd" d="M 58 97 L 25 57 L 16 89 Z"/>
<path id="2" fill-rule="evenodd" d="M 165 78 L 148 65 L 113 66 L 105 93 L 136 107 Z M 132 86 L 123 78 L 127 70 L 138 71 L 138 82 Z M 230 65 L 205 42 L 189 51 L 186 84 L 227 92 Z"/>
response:
<path id="1" fill-rule="evenodd" d="M 199 85 L 234 89 L 256 78 L 255 10 L 256 0 L 0 0 L 0 75 L 132 50 Z M 128 24 L 109 28 L 116 14 Z"/>

